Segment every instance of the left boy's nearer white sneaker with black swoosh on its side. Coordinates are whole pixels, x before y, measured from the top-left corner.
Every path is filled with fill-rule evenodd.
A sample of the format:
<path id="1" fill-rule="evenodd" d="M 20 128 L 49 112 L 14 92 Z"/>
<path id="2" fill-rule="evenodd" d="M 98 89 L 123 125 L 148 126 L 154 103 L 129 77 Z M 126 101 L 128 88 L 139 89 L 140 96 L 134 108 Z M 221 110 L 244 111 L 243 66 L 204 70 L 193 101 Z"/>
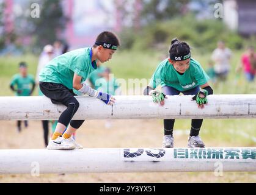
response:
<path id="1" fill-rule="evenodd" d="M 67 141 L 67 139 L 64 139 L 63 137 L 58 137 L 55 140 L 49 140 L 49 144 L 46 147 L 48 150 L 72 150 L 75 148 L 75 144 L 70 143 L 70 141 Z"/>

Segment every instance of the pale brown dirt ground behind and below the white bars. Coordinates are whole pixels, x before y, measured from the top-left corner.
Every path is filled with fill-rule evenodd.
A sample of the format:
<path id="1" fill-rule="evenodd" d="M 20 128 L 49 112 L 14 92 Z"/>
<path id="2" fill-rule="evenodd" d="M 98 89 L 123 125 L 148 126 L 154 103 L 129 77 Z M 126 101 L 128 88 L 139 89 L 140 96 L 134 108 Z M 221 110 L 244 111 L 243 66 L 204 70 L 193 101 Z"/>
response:
<path id="1" fill-rule="evenodd" d="M 86 121 L 76 134 L 76 141 L 87 148 L 97 147 L 161 147 L 161 120 L 133 119 Z M 16 131 L 15 121 L 0 121 L 0 149 L 42 149 L 43 130 L 40 121 L 29 121 L 29 127 Z M 186 147 L 187 135 L 175 135 L 175 147 Z M 228 143 L 207 143 L 208 147 L 227 147 Z M 95 174 L 30 174 L 0 175 L 0 182 L 256 182 L 256 172 L 152 172 Z"/>

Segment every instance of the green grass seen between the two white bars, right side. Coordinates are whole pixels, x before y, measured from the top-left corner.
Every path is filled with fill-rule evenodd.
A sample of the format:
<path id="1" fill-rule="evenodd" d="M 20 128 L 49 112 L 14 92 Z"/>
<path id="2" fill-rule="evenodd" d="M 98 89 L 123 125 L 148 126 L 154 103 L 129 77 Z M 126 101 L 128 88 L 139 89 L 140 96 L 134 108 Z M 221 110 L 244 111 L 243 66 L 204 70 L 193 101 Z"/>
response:
<path id="1" fill-rule="evenodd" d="M 160 121 L 162 122 L 162 121 Z M 190 119 L 175 120 L 175 129 L 190 130 Z M 225 146 L 256 146 L 255 119 L 204 119 L 200 136 L 205 143 L 226 143 Z M 243 135 L 241 135 L 243 134 Z M 249 137 L 246 137 L 249 136 Z"/>

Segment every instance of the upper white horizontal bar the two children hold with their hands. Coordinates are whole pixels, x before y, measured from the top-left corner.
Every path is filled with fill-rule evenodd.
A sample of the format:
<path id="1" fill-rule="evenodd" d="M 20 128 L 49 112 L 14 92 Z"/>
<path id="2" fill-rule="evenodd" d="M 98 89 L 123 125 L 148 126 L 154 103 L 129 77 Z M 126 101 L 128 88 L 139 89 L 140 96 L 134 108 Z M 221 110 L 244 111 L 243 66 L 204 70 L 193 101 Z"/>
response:
<path id="1" fill-rule="evenodd" d="M 151 96 L 115 96 L 115 105 L 95 98 L 77 96 L 80 107 L 73 119 L 132 118 L 256 118 L 256 94 L 208 96 L 200 109 L 192 96 L 168 96 L 160 107 Z M 52 104 L 43 96 L 0 97 L 0 120 L 58 119 L 64 105 Z"/>

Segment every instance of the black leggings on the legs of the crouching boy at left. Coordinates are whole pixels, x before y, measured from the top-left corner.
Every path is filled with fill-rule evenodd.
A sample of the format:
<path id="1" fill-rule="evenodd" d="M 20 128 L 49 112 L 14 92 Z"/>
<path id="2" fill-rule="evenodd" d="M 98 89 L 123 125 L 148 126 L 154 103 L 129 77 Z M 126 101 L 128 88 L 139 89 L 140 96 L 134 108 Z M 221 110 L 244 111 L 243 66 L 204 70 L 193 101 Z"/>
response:
<path id="1" fill-rule="evenodd" d="M 79 102 L 76 100 L 76 98 L 71 97 L 67 101 L 62 102 L 65 106 L 67 106 L 67 109 L 62 112 L 62 114 L 59 117 L 58 122 L 61 124 L 64 124 L 64 126 L 68 126 L 70 124 L 71 127 L 78 129 L 84 120 L 71 120 L 73 116 L 75 115 L 76 111 L 79 108 Z"/>

